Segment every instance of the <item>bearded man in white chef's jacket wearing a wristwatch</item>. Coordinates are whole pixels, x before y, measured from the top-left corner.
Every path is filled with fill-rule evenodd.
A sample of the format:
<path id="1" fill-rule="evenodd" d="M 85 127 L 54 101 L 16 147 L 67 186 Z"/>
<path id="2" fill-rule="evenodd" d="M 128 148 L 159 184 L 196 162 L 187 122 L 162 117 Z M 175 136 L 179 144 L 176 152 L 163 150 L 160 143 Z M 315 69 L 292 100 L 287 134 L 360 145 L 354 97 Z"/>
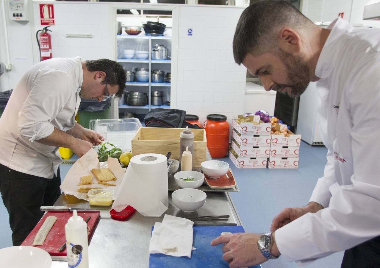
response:
<path id="1" fill-rule="evenodd" d="M 317 81 L 328 154 L 306 206 L 284 208 L 266 234 L 211 242 L 225 243 L 230 267 L 279 255 L 306 264 L 342 250 L 342 267 L 380 267 L 379 40 L 379 29 L 353 28 L 341 18 L 320 28 L 285 1 L 255 2 L 242 13 L 233 41 L 236 63 L 257 75 L 265 90 L 292 97 Z"/>

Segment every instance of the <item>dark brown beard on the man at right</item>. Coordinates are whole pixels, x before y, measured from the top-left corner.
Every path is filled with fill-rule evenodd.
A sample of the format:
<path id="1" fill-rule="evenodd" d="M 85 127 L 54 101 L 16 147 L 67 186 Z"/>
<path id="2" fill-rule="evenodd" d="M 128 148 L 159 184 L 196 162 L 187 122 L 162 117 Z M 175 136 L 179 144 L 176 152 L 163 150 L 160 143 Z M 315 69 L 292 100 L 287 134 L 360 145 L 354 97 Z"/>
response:
<path id="1" fill-rule="evenodd" d="M 279 91 L 283 87 L 290 87 L 291 90 L 288 95 L 292 98 L 299 97 L 309 86 L 309 67 L 301 57 L 293 56 L 282 49 L 279 50 L 278 56 L 287 68 L 286 77 L 289 84 L 276 84 L 272 89 Z"/>

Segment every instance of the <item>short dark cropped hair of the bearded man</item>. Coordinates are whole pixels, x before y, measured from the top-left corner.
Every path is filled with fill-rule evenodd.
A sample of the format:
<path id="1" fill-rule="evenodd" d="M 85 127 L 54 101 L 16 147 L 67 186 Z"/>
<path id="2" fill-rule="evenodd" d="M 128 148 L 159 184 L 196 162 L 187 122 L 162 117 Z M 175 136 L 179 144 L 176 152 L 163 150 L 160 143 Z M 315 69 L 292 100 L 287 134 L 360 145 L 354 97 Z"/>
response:
<path id="1" fill-rule="evenodd" d="M 235 62 L 247 54 L 261 55 L 278 48 L 275 30 L 301 29 L 311 21 L 286 1 L 258 1 L 247 7 L 237 22 L 233 41 Z M 312 22 L 311 22 L 312 23 Z"/>

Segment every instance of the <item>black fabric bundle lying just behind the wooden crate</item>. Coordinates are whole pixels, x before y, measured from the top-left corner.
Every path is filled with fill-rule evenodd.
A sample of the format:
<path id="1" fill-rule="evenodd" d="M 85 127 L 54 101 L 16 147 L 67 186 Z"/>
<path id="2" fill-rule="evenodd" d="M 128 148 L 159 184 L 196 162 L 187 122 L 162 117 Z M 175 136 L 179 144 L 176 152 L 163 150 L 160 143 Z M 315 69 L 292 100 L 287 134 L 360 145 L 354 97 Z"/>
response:
<path id="1" fill-rule="evenodd" d="M 200 128 L 185 122 L 186 111 L 179 109 L 156 108 L 144 117 L 146 127 Z"/>

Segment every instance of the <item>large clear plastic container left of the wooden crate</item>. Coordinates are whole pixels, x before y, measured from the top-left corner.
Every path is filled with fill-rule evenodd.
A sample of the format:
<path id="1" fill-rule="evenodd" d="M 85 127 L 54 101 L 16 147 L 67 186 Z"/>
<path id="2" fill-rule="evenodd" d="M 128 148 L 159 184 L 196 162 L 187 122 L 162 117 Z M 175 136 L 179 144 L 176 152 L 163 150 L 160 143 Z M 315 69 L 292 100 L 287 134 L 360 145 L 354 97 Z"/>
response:
<path id="1" fill-rule="evenodd" d="M 130 152 L 132 149 L 132 139 L 135 137 L 141 122 L 137 118 L 121 119 L 92 119 L 90 120 L 90 129 L 95 130 L 104 136 L 104 141 L 112 143 L 115 147 L 120 148 L 122 152 Z M 99 146 L 94 147 L 99 151 Z M 119 159 L 119 155 L 109 155 Z M 107 161 L 108 155 L 98 155 L 100 162 Z"/>

